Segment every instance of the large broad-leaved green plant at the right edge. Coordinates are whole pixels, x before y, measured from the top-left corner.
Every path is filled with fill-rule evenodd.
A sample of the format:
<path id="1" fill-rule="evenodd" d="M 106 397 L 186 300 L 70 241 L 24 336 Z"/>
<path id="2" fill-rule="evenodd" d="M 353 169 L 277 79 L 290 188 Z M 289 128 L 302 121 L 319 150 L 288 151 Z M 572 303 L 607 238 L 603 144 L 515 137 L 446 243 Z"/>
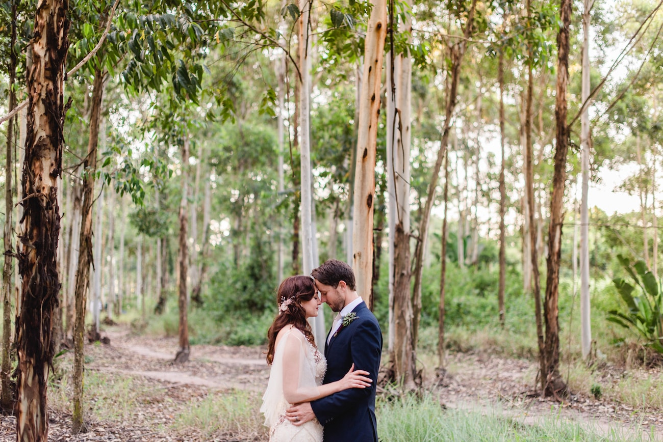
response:
<path id="1" fill-rule="evenodd" d="M 624 328 L 634 329 L 645 339 L 645 345 L 663 353 L 663 314 L 660 281 L 648 271 L 644 261 L 636 261 L 633 266 L 622 255 L 617 258 L 633 279 L 640 294 L 633 294 L 636 287 L 623 278 L 613 279 L 615 287 L 627 305 L 627 312 L 610 310 L 608 320 Z"/>

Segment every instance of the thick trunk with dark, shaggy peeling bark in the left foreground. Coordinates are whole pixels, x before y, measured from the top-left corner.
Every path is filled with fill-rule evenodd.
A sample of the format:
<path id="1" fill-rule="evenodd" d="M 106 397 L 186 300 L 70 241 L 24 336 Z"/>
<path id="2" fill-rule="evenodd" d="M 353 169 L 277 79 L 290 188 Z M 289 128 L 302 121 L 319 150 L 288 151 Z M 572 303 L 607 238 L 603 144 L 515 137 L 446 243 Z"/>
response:
<path id="1" fill-rule="evenodd" d="M 46 390 L 55 348 L 51 339 L 52 314 L 58 307 L 60 290 L 57 185 L 62 174 L 68 8 L 67 0 L 38 1 L 31 41 L 21 197 L 23 234 L 19 251 L 22 287 L 16 316 L 18 397 L 15 411 L 19 441 L 46 442 L 48 439 Z"/>

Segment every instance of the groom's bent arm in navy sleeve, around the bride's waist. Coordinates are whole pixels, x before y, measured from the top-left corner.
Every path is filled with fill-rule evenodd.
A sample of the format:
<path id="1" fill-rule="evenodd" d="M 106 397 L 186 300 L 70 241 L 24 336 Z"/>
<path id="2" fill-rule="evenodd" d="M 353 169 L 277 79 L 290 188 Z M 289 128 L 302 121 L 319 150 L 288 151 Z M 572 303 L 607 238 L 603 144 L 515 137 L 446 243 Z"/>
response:
<path id="1" fill-rule="evenodd" d="M 375 394 L 382 351 L 382 333 L 377 322 L 371 320 L 361 322 L 350 338 L 349 345 L 355 370 L 369 372 L 373 382 L 367 388 L 348 388 L 311 402 L 311 408 L 322 425 L 346 413 L 349 408 L 363 404 L 367 398 Z"/>

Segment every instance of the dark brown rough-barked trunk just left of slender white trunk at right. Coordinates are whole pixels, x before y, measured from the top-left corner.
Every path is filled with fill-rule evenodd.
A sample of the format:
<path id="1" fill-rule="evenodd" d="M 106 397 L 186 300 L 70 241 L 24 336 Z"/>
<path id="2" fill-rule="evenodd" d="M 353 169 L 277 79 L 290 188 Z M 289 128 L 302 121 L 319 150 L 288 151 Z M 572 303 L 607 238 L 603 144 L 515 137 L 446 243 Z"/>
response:
<path id="1" fill-rule="evenodd" d="M 545 396 L 566 396 L 568 388 L 559 371 L 560 365 L 560 324 L 558 302 L 560 286 L 560 259 L 562 258 L 562 224 L 564 223 L 563 199 L 566 184 L 566 155 L 569 149 L 569 128 L 566 121 L 568 105 L 566 93 L 569 82 L 569 49 L 571 25 L 571 0 L 562 0 L 560 5 L 560 32 L 557 36 L 557 95 L 555 118 L 557 126 L 554 174 L 552 177 L 552 197 L 550 199 L 550 224 L 548 225 L 548 275 L 546 277 L 546 320 L 545 370 L 541 373 L 542 394 Z"/>

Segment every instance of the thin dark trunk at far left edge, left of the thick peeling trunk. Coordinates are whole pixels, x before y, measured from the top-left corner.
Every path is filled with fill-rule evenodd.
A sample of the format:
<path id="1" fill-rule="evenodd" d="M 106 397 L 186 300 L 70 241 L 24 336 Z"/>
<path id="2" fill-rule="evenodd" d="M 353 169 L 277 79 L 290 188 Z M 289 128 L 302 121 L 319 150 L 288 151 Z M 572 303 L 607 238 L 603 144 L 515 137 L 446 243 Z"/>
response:
<path id="1" fill-rule="evenodd" d="M 9 111 L 16 107 L 16 93 L 14 91 L 14 82 L 16 77 L 16 65 L 18 56 L 14 50 L 16 46 L 16 17 L 17 1 L 11 3 L 11 38 L 9 40 Z M 14 144 L 16 142 L 14 126 L 16 117 L 9 118 L 7 123 L 7 161 L 5 163 L 5 229 L 3 232 L 3 244 L 5 245 L 5 263 L 2 272 L 2 303 L 3 303 L 3 326 L 2 326 L 2 365 L 0 369 L 0 407 L 3 410 L 11 410 L 14 405 L 14 398 L 10 388 L 9 376 L 11 372 L 11 360 L 9 358 L 9 345 L 11 341 L 11 292 L 14 290 L 13 273 L 13 247 L 12 247 L 12 220 L 13 212 L 13 182 L 14 175 Z"/>

